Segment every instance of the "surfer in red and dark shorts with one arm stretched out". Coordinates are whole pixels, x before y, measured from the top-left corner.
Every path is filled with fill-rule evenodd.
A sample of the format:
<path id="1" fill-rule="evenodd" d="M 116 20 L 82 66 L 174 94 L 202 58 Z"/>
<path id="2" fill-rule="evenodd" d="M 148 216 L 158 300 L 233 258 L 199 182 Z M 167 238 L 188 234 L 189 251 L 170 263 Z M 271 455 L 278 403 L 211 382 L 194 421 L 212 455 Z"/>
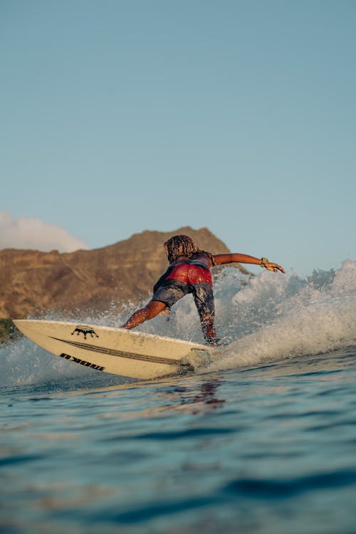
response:
<path id="1" fill-rule="evenodd" d="M 156 315 L 167 315 L 172 305 L 184 295 L 192 293 L 204 338 L 210 345 L 216 345 L 219 340 L 214 326 L 214 293 L 210 268 L 223 263 L 251 263 L 275 273 L 285 272 L 283 267 L 267 258 L 202 251 L 189 236 L 184 235 L 171 237 L 164 243 L 164 248 L 169 266 L 155 283 L 152 299 L 144 308 L 135 311 L 122 328 L 130 330 Z"/>

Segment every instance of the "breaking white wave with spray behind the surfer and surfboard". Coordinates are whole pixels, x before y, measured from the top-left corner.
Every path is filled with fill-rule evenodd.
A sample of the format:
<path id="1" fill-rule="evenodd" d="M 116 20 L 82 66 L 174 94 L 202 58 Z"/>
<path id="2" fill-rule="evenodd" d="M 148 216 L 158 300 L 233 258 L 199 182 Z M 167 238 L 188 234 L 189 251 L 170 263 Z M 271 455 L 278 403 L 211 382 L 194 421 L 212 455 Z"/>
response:
<path id="1" fill-rule="evenodd" d="M 310 276 L 263 271 L 248 277 L 227 266 L 214 275 L 216 328 L 229 345 L 200 372 L 257 366 L 286 358 L 325 354 L 356 347 L 356 262 L 346 260 L 338 271 Z M 132 313 L 90 310 L 78 321 L 120 326 Z M 52 320 L 66 320 L 52 313 Z M 169 321 L 155 318 L 137 330 L 202 342 L 197 310 L 188 296 L 174 306 Z M 90 370 L 68 365 L 21 338 L 0 349 L 0 386 L 31 384 L 69 377 L 88 377 Z"/>

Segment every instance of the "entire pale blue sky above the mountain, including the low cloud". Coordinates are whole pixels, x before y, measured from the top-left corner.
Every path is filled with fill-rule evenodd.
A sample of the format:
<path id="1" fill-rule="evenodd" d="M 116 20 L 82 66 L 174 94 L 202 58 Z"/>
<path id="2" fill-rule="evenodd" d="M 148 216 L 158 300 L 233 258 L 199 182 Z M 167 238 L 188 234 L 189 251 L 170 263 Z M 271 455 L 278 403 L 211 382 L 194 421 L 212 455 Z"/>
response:
<path id="1" fill-rule="evenodd" d="M 354 0 L 0 0 L 0 248 L 189 225 L 355 260 L 355 27 Z"/>

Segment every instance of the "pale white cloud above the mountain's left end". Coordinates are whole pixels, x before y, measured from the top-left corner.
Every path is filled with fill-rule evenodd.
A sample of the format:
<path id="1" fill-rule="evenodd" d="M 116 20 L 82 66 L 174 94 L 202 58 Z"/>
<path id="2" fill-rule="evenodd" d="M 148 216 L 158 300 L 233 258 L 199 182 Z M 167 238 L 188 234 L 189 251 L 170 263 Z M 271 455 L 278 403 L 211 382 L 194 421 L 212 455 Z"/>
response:
<path id="1" fill-rule="evenodd" d="M 15 220 L 6 211 L 0 211 L 0 249 L 31 248 L 38 251 L 58 250 L 73 252 L 88 245 L 68 234 L 62 226 L 55 226 L 41 221 L 19 217 Z"/>

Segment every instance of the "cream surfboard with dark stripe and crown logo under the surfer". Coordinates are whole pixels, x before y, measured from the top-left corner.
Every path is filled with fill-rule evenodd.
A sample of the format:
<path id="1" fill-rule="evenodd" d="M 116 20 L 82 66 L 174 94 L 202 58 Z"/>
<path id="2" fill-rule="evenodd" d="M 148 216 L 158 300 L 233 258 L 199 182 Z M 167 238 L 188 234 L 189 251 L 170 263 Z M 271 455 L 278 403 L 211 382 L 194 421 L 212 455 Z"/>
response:
<path id="1" fill-rule="evenodd" d="M 125 328 L 29 319 L 14 323 L 30 340 L 65 361 L 124 377 L 152 379 L 192 371 L 209 361 L 214 350 Z"/>

